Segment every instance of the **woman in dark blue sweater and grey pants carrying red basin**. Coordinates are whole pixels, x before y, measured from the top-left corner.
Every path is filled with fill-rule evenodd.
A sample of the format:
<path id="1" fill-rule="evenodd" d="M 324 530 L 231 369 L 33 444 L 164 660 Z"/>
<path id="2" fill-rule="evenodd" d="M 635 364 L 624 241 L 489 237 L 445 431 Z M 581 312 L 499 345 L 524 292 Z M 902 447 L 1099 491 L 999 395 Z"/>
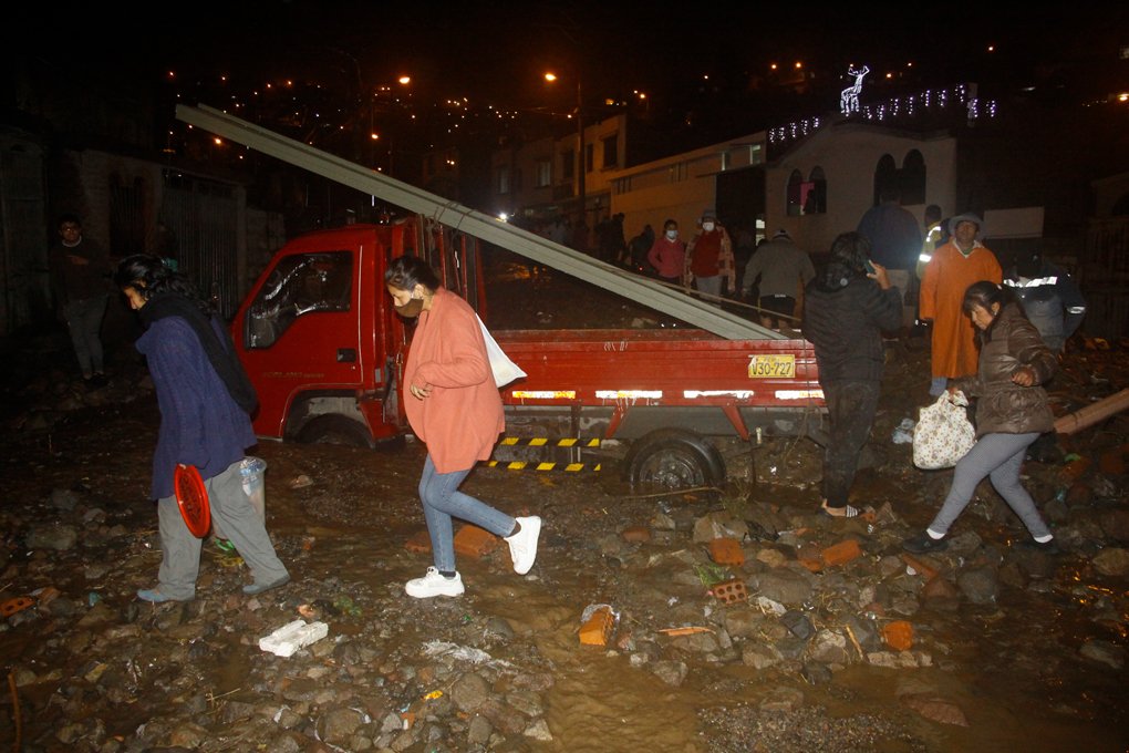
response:
<path id="1" fill-rule="evenodd" d="M 244 450 L 255 444 L 250 414 L 257 399 L 231 336 L 187 278 L 159 256 L 123 259 L 114 282 L 146 326 L 135 348 L 146 358 L 160 410 L 151 496 L 157 500 L 161 560 L 157 586 L 139 589 L 138 598 L 156 604 L 195 597 L 202 544 L 176 502 L 178 465 L 200 471 L 213 522 L 251 568 L 254 581 L 243 593 L 285 586 L 290 573 L 243 489 L 240 465 Z"/>

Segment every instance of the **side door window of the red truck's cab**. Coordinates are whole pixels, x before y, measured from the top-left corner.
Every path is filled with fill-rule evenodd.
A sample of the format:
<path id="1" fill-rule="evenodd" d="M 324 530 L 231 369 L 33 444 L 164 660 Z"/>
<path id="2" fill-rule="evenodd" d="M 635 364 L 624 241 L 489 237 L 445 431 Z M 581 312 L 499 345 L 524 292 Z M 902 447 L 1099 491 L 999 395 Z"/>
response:
<path id="1" fill-rule="evenodd" d="M 244 343 L 270 348 L 303 316 L 348 312 L 352 303 L 352 254 L 296 254 L 279 260 L 247 309 Z"/>

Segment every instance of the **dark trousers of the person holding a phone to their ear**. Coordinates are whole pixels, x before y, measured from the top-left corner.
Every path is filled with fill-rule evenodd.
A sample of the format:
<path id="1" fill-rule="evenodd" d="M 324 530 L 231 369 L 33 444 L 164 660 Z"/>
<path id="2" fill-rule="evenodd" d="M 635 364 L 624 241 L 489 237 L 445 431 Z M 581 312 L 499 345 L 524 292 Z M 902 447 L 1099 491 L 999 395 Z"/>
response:
<path id="1" fill-rule="evenodd" d="M 858 458 L 870 437 L 878 410 L 878 382 L 833 382 L 823 385 L 831 434 L 823 449 L 823 497 L 828 507 L 843 507 L 855 483 Z"/>

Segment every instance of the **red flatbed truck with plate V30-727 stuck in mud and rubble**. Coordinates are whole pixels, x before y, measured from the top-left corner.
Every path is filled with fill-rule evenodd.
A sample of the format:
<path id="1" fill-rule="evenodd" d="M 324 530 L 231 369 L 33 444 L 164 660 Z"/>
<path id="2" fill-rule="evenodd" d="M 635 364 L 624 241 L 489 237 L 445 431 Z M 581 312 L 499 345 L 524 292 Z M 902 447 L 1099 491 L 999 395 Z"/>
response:
<path id="1" fill-rule="evenodd" d="M 413 214 L 296 238 L 274 254 L 233 322 L 259 391 L 261 438 L 377 447 L 410 432 L 401 371 L 411 325 L 384 287 L 387 263 L 402 254 L 427 259 L 490 324 L 470 235 Z M 575 470 L 614 462 L 633 484 L 710 487 L 737 474 L 737 458 L 750 469 L 762 437 L 824 436 L 815 356 L 802 339 L 491 331 L 528 375 L 501 391 L 507 429 L 496 463 Z"/>

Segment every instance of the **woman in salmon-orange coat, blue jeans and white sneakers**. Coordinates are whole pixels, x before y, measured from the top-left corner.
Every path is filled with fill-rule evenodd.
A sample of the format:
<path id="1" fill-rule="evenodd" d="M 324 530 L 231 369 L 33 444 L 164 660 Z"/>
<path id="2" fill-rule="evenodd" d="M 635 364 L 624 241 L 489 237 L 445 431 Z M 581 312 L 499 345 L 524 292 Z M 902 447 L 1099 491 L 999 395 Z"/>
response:
<path id="1" fill-rule="evenodd" d="M 462 576 L 455 570 L 452 518 L 456 517 L 505 536 L 514 570 L 525 575 L 537 555 L 541 518 L 514 518 L 458 491 L 474 464 L 490 457 L 506 427 L 479 317 L 417 256 L 393 260 L 384 282 L 396 313 L 419 317 L 404 367 L 404 385 L 411 393 L 405 410 L 412 431 L 428 450 L 419 492 L 435 567 L 409 580 L 404 590 L 415 598 L 463 593 Z"/>

